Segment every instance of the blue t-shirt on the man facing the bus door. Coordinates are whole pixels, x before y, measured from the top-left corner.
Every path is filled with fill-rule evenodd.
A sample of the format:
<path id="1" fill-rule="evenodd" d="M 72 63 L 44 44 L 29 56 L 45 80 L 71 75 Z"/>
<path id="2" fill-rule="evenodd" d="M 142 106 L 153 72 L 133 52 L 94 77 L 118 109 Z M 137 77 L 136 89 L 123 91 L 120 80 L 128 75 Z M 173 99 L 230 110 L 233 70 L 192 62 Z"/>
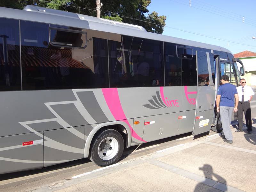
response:
<path id="1" fill-rule="evenodd" d="M 230 83 L 220 85 L 217 91 L 217 95 L 220 95 L 220 106 L 234 107 L 235 94 L 237 94 L 235 85 L 232 85 Z"/>

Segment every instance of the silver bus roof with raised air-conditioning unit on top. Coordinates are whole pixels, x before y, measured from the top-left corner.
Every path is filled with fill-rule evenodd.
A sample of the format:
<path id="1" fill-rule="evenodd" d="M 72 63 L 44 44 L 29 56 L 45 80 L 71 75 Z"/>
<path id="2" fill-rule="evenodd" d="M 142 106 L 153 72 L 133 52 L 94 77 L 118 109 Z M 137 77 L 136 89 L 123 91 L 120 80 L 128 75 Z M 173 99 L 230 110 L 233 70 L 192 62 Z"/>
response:
<path id="1" fill-rule="evenodd" d="M 138 25 L 33 5 L 27 5 L 23 10 L 0 7 L 0 17 L 86 28 L 231 53 L 228 49 L 220 46 L 147 32 L 145 28 Z"/>

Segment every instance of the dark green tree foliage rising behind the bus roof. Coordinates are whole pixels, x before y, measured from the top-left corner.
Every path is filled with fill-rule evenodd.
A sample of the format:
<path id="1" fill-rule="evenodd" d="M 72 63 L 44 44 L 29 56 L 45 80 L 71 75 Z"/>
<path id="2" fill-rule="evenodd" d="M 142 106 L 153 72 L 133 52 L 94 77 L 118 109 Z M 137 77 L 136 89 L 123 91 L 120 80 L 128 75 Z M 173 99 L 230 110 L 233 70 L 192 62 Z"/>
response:
<path id="1" fill-rule="evenodd" d="M 48 1 L 50 0 L 8 0 L 0 1 L 0 6 L 23 9 L 26 5 L 36 5 L 96 16 L 95 0 Z M 151 3 L 151 0 L 101 0 L 101 3 L 103 3 L 101 11 L 102 18 L 140 25 L 147 31 L 153 33 L 163 33 L 166 16 L 158 16 L 157 12 L 148 13 L 147 7 Z"/>

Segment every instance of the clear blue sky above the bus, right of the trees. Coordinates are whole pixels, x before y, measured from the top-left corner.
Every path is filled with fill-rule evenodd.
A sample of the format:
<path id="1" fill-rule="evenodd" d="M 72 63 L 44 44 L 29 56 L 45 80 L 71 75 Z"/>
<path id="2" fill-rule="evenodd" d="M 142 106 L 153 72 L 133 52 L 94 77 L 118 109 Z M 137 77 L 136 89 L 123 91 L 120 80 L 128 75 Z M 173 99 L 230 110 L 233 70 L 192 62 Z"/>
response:
<path id="1" fill-rule="evenodd" d="M 218 45 L 233 54 L 256 52 L 255 8 L 255 0 L 191 0 L 191 7 L 189 0 L 151 0 L 148 6 L 149 13 L 167 17 L 163 35 Z"/>

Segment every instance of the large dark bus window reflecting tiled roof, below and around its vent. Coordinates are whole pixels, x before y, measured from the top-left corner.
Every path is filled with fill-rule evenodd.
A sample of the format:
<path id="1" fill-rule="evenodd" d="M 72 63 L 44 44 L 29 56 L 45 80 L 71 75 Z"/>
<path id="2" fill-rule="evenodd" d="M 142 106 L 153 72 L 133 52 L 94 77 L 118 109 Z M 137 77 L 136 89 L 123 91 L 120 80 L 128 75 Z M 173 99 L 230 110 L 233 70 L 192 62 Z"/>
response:
<path id="1" fill-rule="evenodd" d="M 85 49 L 56 47 L 49 44 L 48 24 L 21 21 L 20 25 L 24 90 L 108 87 L 106 33 L 79 29 L 87 33 Z M 61 35 L 54 37 L 64 42 Z M 81 37 L 83 46 L 86 39 Z"/>

